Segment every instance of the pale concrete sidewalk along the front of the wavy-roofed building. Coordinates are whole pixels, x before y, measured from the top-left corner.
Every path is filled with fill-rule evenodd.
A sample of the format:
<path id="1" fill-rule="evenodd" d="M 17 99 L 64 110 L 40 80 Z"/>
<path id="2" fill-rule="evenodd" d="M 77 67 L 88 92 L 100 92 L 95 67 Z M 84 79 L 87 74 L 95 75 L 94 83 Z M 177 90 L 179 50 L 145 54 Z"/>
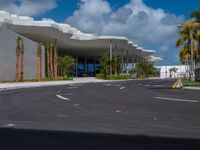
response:
<path id="1" fill-rule="evenodd" d="M 73 80 L 68 80 L 68 81 L 1 83 L 0 91 L 33 88 L 33 87 L 58 86 L 58 85 L 77 84 L 77 83 L 97 83 L 97 82 L 114 82 L 114 80 L 101 80 L 101 79 L 96 79 L 94 77 L 86 77 L 86 78 L 74 78 Z"/>

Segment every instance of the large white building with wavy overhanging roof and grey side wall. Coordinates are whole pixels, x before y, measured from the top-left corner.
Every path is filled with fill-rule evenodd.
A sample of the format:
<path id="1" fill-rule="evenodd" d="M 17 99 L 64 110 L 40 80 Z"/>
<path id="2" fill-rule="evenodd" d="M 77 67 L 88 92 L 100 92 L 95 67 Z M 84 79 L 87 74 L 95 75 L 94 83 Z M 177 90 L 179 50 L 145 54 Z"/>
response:
<path id="1" fill-rule="evenodd" d="M 144 49 L 130 41 L 127 37 L 96 36 L 83 33 L 68 24 L 53 21 L 37 21 L 28 16 L 18 16 L 6 11 L 0 11 L 0 30 L 2 31 L 1 33 L 4 33 L 0 36 L 0 69 L 1 72 L 4 73 L 0 76 L 0 80 L 14 79 L 14 71 L 10 73 L 7 68 L 13 68 L 12 70 L 15 70 L 15 47 L 16 36 L 18 35 L 23 36 L 25 39 L 32 41 L 36 45 L 37 43 L 42 43 L 43 45 L 51 43 L 55 49 L 58 49 L 60 54 L 74 57 L 76 60 L 74 69 L 76 76 L 78 76 L 79 72 L 95 76 L 99 58 L 107 54 L 110 55 L 110 59 L 119 56 L 122 60 L 122 65 L 136 63 L 141 58 L 153 62 L 161 60 L 161 58 L 153 56 L 155 50 Z M 10 35 L 12 38 L 8 37 L 7 33 L 12 34 Z M 27 47 L 25 53 L 30 54 L 32 49 L 29 48 L 30 44 L 26 41 L 24 41 L 24 45 Z M 4 43 L 6 43 L 6 45 Z M 10 48 L 11 44 L 12 47 Z M 32 51 L 33 57 L 25 56 L 25 60 L 35 58 L 37 46 L 35 46 Z M 11 58 L 8 56 L 11 56 Z M 46 55 L 44 54 L 44 56 Z M 4 67 L 5 64 L 8 64 L 7 61 L 11 60 L 12 63 L 9 63 L 9 66 Z M 43 58 L 43 60 L 45 60 L 45 58 Z M 27 63 L 25 63 L 25 65 L 26 64 Z M 36 64 L 35 59 L 33 62 L 29 62 L 29 64 Z M 79 67 L 80 64 L 83 64 L 84 69 Z M 93 66 L 92 71 L 89 70 L 89 65 L 91 64 Z M 32 74 L 34 74 L 35 68 L 35 66 L 32 67 Z M 43 63 L 43 70 L 45 69 Z M 13 75 L 8 78 L 6 77 L 6 74 Z"/>

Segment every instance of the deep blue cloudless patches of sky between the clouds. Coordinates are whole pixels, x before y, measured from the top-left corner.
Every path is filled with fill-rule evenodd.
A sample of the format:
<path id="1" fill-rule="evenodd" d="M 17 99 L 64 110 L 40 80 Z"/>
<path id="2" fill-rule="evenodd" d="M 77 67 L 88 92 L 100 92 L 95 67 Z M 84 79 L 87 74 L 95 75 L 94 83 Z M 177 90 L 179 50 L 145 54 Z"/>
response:
<path id="1" fill-rule="evenodd" d="M 120 8 L 127 4 L 130 0 L 108 0 L 113 10 Z M 200 7 L 199 0 L 143 0 L 148 6 L 152 8 L 161 8 L 166 12 L 176 15 L 184 15 L 189 19 L 189 14 L 192 10 Z M 57 0 L 57 8 L 48 11 L 44 14 L 34 16 L 36 19 L 52 18 L 55 21 L 63 22 L 66 17 L 71 16 L 73 12 L 78 9 L 80 0 Z"/>

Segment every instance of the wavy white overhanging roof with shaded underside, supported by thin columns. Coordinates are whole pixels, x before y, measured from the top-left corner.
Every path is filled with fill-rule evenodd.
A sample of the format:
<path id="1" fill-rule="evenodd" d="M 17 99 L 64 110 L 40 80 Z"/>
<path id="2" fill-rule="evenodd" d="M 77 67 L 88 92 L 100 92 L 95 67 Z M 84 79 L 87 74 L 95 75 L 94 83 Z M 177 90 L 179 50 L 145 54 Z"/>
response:
<path id="1" fill-rule="evenodd" d="M 35 21 L 31 17 L 18 16 L 0 11 L 0 24 L 9 30 L 28 37 L 36 42 L 54 42 L 60 50 L 74 56 L 102 56 L 109 52 L 110 42 L 113 50 L 120 54 L 128 51 L 129 55 L 148 57 L 155 53 L 144 50 L 126 37 L 95 36 L 83 33 L 68 24 L 56 23 L 51 20 Z M 153 59 L 153 57 L 152 57 Z M 155 59 L 157 61 L 158 59 Z"/>

